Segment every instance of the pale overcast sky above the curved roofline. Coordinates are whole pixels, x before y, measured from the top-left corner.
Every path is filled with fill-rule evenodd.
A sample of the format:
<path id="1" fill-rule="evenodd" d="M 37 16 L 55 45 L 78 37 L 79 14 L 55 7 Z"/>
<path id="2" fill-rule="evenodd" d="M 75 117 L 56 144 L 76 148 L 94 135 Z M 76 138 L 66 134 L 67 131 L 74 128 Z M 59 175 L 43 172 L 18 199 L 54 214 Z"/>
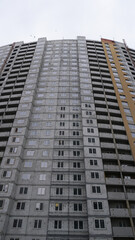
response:
<path id="1" fill-rule="evenodd" d="M 54 39 L 113 39 L 135 48 L 135 0 L 0 0 L 0 46 Z"/>

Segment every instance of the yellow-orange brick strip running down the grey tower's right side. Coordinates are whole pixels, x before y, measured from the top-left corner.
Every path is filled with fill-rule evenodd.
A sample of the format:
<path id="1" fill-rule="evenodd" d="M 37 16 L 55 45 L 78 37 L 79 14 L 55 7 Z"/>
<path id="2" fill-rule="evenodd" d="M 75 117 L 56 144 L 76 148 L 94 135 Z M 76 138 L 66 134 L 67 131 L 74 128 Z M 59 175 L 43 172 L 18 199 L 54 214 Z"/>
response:
<path id="1" fill-rule="evenodd" d="M 105 56 L 106 56 L 106 59 L 107 59 L 109 70 L 110 70 L 114 90 L 115 90 L 115 93 L 116 93 L 117 101 L 118 101 L 120 112 L 121 112 L 122 119 L 123 119 L 123 123 L 124 123 L 125 129 L 126 129 L 127 137 L 128 137 L 128 140 L 129 140 L 129 144 L 130 144 L 130 147 L 131 147 L 133 158 L 135 160 L 135 138 L 132 137 L 131 130 L 130 130 L 129 125 L 128 125 L 128 120 L 126 118 L 126 113 L 124 112 L 124 107 L 122 105 L 122 101 L 125 101 L 125 102 L 128 103 L 129 109 L 130 109 L 130 112 L 131 112 L 131 116 L 132 116 L 134 124 L 135 124 L 135 102 L 132 99 L 132 97 L 135 97 L 135 94 L 132 95 L 129 91 L 128 83 L 126 82 L 127 77 L 122 72 L 122 70 L 124 70 L 124 67 L 121 66 L 121 63 L 119 61 L 120 56 L 119 56 L 119 53 L 117 53 L 115 42 L 111 41 L 111 40 L 108 40 L 108 39 L 101 39 L 101 41 L 102 41 L 103 48 L 104 48 L 104 51 L 105 51 Z M 120 83 L 122 85 L 124 94 L 118 92 L 118 87 L 116 85 L 116 81 L 115 81 L 114 74 L 113 74 L 113 71 L 112 71 L 112 66 L 110 64 L 110 60 L 109 60 L 109 57 L 108 57 L 108 54 L 107 54 L 105 43 L 107 43 L 110 47 L 111 54 L 112 54 L 112 57 L 113 57 L 113 63 L 115 63 L 115 67 L 117 69 L 119 79 L 120 79 Z M 125 100 L 121 99 L 120 95 L 125 95 L 125 97 L 126 97 Z"/>

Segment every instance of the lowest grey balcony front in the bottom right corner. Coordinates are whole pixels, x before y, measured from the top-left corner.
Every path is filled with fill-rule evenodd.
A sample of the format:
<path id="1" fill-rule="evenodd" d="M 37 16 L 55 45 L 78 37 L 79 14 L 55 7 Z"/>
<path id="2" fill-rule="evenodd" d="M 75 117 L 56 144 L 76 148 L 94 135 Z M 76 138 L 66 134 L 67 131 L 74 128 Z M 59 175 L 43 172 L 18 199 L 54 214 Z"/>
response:
<path id="1" fill-rule="evenodd" d="M 131 227 L 113 227 L 113 235 L 115 237 L 133 237 Z"/>

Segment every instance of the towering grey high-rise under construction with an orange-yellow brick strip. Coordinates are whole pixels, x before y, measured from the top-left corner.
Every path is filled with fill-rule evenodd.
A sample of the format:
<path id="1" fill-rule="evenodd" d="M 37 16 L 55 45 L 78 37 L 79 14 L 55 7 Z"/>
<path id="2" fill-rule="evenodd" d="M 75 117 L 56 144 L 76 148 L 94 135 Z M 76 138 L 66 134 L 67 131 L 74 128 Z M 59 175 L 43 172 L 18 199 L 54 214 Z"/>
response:
<path id="1" fill-rule="evenodd" d="M 135 240 L 135 50 L 0 48 L 0 240 Z"/>

